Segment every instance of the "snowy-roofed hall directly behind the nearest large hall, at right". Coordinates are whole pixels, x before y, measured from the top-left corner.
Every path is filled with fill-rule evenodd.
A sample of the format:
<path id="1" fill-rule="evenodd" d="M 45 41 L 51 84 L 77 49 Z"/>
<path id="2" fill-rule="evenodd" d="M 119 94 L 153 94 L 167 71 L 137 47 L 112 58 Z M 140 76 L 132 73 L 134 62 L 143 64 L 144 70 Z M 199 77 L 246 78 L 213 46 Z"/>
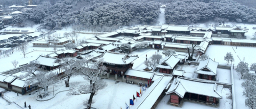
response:
<path id="1" fill-rule="evenodd" d="M 202 60 L 195 70 L 195 73 L 198 74 L 198 78 L 216 80 L 215 76 L 217 76 L 218 65 L 219 62 L 214 62 L 211 58 Z"/>

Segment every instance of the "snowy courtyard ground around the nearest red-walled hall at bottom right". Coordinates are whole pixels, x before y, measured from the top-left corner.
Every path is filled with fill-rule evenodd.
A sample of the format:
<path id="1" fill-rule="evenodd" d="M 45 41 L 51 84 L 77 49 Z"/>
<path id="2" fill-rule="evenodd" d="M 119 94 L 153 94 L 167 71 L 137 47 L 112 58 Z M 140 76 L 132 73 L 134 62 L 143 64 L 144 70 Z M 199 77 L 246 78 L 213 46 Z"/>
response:
<path id="1" fill-rule="evenodd" d="M 230 109 L 232 108 L 232 99 L 228 99 L 227 96 L 231 94 L 230 90 L 228 88 L 222 89 L 222 99 L 220 99 L 220 109 Z M 180 108 L 186 108 L 186 109 L 214 109 L 216 107 L 206 106 L 203 104 L 197 104 L 194 102 L 188 102 L 185 101 L 182 105 L 182 107 L 172 106 L 168 104 L 170 102 L 170 95 L 165 95 L 164 98 L 158 103 L 156 109 L 162 109 L 162 108 L 172 108 L 172 109 L 180 109 Z"/>

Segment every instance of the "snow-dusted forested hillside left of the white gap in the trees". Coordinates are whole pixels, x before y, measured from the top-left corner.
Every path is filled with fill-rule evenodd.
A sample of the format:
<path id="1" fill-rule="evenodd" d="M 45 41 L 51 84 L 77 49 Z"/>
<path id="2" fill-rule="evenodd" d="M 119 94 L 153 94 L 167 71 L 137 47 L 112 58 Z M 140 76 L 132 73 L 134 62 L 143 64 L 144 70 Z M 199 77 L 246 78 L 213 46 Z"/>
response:
<path id="1" fill-rule="evenodd" d="M 102 1 L 101 1 L 102 2 Z M 25 23 L 42 23 L 49 29 L 55 26 L 70 24 L 86 28 L 107 28 L 136 24 L 152 24 L 159 15 L 159 4 L 154 1 L 60 1 L 52 5 L 44 2 L 35 10 L 28 10 L 14 17 L 14 23 L 22 26 Z"/>

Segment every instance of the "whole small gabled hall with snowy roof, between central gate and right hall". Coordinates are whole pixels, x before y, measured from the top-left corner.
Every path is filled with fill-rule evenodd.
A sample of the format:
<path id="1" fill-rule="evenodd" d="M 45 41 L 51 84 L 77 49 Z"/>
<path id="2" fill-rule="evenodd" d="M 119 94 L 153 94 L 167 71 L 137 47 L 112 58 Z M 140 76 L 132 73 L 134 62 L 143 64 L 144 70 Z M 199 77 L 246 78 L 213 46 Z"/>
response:
<path id="1" fill-rule="evenodd" d="M 169 57 L 166 57 L 164 61 L 156 65 L 156 68 L 159 68 L 159 72 L 162 72 L 165 74 L 172 74 L 173 69 L 179 62 L 180 62 L 180 58 L 177 58 L 174 55 L 171 55 Z"/>

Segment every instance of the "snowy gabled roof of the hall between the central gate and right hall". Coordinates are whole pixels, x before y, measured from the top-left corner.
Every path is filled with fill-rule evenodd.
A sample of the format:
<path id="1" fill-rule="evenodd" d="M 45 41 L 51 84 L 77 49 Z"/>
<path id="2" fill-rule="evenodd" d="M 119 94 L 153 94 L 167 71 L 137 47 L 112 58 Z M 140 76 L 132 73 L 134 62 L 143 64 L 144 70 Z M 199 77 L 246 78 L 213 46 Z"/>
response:
<path id="1" fill-rule="evenodd" d="M 179 58 L 175 57 L 174 55 L 171 55 L 169 57 L 166 57 L 164 61 L 156 65 L 156 67 L 164 69 L 173 69 L 179 61 Z"/>

